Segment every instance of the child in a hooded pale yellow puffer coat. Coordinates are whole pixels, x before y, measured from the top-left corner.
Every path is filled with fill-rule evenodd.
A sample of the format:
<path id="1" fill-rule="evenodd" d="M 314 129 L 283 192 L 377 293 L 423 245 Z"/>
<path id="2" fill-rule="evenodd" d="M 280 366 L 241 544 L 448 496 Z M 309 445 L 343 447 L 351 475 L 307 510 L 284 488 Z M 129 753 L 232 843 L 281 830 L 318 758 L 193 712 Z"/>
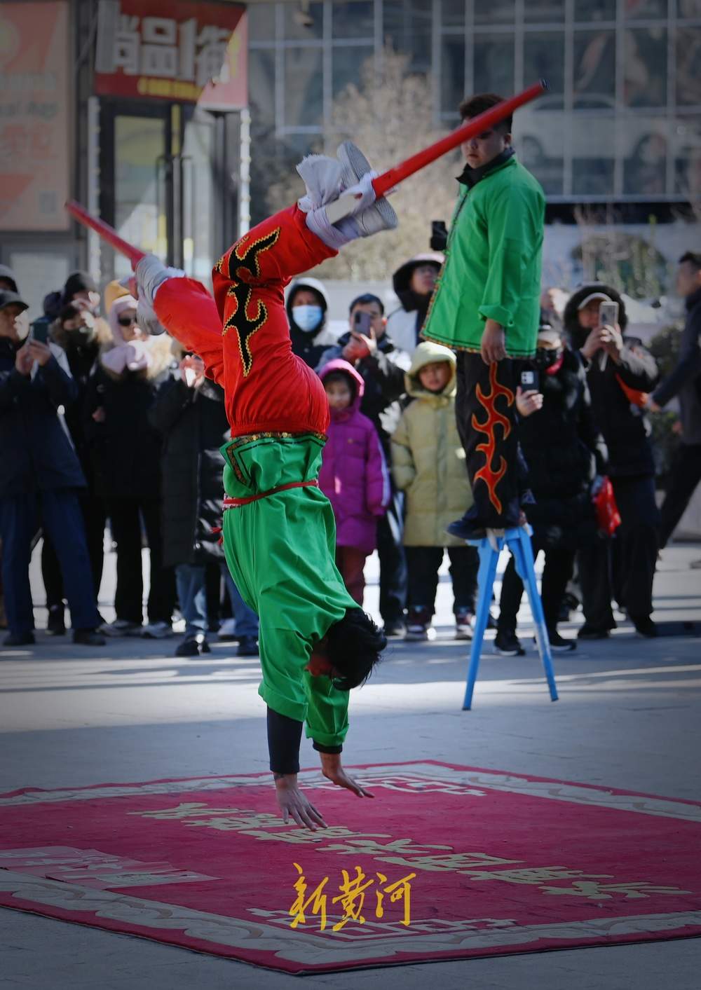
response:
<path id="1" fill-rule="evenodd" d="M 451 560 L 455 639 L 472 638 L 479 558 L 446 528 L 472 502 L 465 455 L 455 425 L 455 356 L 427 341 L 405 375 L 412 400 L 392 437 L 392 475 L 406 492 L 409 584 L 407 640 L 433 640 L 438 575 L 444 550 Z"/>

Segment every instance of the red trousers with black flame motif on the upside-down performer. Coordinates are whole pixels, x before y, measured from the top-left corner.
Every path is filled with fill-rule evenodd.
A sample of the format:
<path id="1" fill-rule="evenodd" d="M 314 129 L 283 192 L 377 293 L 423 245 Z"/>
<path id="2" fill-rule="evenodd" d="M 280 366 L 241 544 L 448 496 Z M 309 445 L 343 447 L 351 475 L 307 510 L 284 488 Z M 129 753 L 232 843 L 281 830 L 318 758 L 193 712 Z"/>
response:
<path id="1" fill-rule="evenodd" d="M 214 299 L 191 278 L 169 278 L 155 295 L 167 332 L 205 362 L 225 390 L 232 437 L 325 434 L 324 386 L 292 353 L 284 289 L 337 251 L 307 229 L 296 206 L 245 234 L 214 268 Z"/>

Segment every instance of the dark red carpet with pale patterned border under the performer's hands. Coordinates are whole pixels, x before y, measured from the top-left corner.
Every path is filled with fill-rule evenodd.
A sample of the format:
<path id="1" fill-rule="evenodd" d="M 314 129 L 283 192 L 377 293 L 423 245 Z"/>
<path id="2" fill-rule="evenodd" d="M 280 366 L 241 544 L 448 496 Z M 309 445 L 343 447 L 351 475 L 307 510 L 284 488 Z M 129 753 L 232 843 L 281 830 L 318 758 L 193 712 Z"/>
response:
<path id="1" fill-rule="evenodd" d="M 699 803 L 431 760 L 356 772 L 374 801 L 303 773 L 317 833 L 282 825 L 268 774 L 4 795 L 0 906 L 290 972 L 701 935 Z"/>

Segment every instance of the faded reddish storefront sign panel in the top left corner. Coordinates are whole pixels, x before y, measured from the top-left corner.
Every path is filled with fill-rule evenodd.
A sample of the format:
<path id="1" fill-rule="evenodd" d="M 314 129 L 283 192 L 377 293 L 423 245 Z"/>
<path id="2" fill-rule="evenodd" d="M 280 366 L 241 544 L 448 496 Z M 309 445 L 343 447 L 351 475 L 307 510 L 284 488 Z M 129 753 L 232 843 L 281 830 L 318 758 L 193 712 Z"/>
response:
<path id="1" fill-rule="evenodd" d="M 0 230 L 64 231 L 68 4 L 0 4 Z"/>

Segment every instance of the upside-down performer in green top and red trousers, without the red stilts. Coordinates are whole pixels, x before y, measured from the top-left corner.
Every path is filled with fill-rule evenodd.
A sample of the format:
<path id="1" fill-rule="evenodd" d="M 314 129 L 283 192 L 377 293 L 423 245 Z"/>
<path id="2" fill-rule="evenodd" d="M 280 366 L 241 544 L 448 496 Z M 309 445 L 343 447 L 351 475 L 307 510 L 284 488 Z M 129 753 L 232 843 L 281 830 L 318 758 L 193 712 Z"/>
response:
<path id="1" fill-rule="evenodd" d="M 153 255 L 136 267 L 141 320 L 204 361 L 225 390 L 231 443 L 222 447 L 224 547 L 232 576 L 260 620 L 270 769 L 283 820 L 326 823 L 297 784 L 302 724 L 322 772 L 358 797 L 341 751 L 350 688 L 362 683 L 386 641 L 350 597 L 335 563 L 336 525 L 317 475 L 329 403 L 324 386 L 293 354 L 283 290 L 290 278 L 340 247 L 397 224 L 375 202 L 369 164 L 350 142 L 339 159 L 312 155 L 297 170 L 307 195 L 258 224 L 213 272 L 215 300 Z M 360 180 L 358 182 L 358 180 Z M 350 217 L 332 225 L 325 205 L 352 193 Z M 223 329 L 222 329 L 223 325 Z"/>

